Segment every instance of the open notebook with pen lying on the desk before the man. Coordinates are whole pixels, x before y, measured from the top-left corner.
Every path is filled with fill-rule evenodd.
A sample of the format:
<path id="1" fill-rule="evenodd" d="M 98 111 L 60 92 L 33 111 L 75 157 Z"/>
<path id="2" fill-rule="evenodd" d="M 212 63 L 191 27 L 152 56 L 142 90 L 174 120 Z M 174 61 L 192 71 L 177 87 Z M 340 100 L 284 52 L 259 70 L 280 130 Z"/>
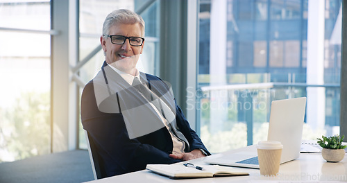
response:
<path id="1" fill-rule="evenodd" d="M 146 169 L 172 179 L 249 175 L 228 166 L 198 165 L 198 167 L 201 169 L 184 166 L 182 163 L 148 164 Z"/>

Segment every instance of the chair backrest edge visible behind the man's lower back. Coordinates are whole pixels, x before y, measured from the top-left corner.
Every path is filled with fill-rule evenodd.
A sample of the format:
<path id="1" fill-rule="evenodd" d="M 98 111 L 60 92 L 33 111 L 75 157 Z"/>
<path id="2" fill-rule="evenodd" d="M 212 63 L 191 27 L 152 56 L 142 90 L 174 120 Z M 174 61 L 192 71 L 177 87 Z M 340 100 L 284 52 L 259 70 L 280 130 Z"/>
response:
<path id="1" fill-rule="evenodd" d="M 94 144 L 93 139 L 90 137 L 90 134 L 85 131 L 85 139 L 87 141 L 88 153 L 90 157 L 90 163 L 92 164 L 92 170 L 94 175 L 94 180 L 101 179 L 105 176 L 105 171 L 103 170 L 102 162 L 99 157 L 98 152 L 96 152 L 96 146 Z"/>

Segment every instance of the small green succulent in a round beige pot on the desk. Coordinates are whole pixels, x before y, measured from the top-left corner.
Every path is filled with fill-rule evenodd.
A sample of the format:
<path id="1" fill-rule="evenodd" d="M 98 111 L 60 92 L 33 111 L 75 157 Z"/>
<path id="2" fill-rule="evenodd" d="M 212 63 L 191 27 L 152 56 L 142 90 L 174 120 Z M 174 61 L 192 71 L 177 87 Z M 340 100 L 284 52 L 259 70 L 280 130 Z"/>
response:
<path id="1" fill-rule="evenodd" d="M 332 137 L 325 137 L 324 135 L 322 135 L 322 139 L 317 139 L 317 143 L 319 143 L 319 146 L 323 148 L 322 156 L 327 162 L 339 162 L 344 159 L 344 148 L 347 147 L 342 145 L 344 135 L 342 135 L 342 137 L 337 134 Z"/>

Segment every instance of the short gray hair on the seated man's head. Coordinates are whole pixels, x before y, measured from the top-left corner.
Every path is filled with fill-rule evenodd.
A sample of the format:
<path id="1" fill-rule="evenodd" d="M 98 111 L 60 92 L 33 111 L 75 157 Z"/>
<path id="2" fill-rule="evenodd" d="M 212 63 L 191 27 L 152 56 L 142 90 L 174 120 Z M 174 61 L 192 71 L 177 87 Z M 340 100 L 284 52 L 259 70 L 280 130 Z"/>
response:
<path id="1" fill-rule="evenodd" d="M 126 10 L 114 10 L 106 17 L 105 21 L 103 21 L 103 36 L 109 35 L 110 28 L 115 24 L 136 24 L 142 28 L 142 36 L 144 37 L 144 19 L 141 16 L 137 15 L 137 13 Z"/>

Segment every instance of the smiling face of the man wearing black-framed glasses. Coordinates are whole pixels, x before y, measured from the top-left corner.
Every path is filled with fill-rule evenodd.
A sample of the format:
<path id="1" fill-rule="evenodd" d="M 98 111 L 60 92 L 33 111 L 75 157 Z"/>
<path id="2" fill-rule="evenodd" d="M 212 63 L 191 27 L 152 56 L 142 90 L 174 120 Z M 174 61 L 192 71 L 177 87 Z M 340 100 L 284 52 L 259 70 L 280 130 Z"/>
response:
<path id="1" fill-rule="evenodd" d="M 137 24 L 115 24 L 110 28 L 110 35 L 123 35 L 126 37 L 143 37 L 141 26 Z M 142 46 L 131 46 L 129 40 L 126 39 L 124 44 L 112 44 L 110 37 L 100 38 L 101 46 L 105 51 L 105 60 L 113 67 L 135 75 L 136 64 L 139 55 L 142 54 L 144 44 Z"/>

